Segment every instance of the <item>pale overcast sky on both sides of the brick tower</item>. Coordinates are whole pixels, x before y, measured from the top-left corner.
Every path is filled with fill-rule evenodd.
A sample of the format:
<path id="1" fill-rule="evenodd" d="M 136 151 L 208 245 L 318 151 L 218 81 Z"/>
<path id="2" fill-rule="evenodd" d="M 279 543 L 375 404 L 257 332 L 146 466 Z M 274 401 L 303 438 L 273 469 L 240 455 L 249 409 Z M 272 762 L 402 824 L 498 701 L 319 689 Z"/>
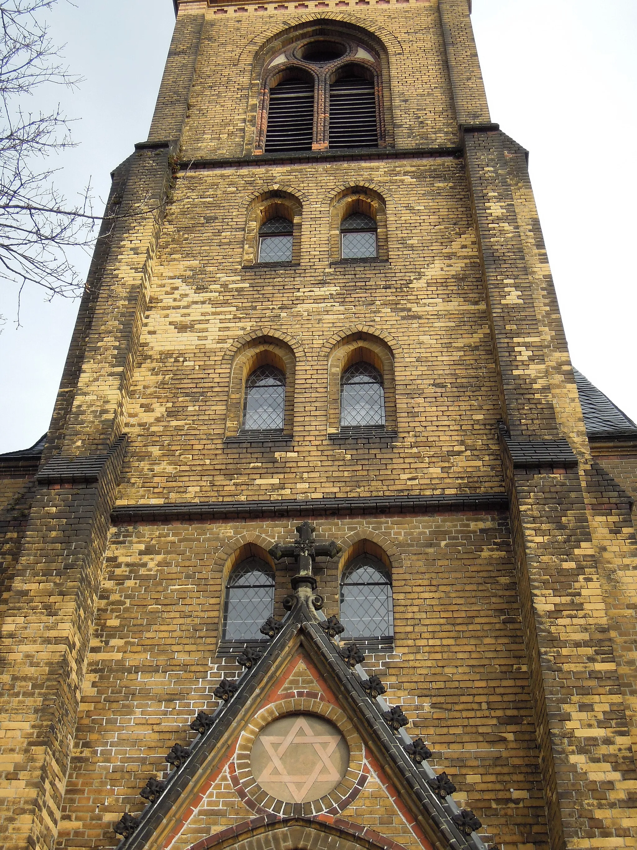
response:
<path id="1" fill-rule="evenodd" d="M 473 0 L 472 18 L 493 121 L 531 152 L 573 364 L 637 420 L 637 3 Z M 171 0 L 60 0 L 51 14 L 84 77 L 48 95 L 79 119 L 79 146 L 59 163 L 68 198 L 91 178 L 104 199 L 112 168 L 146 138 L 173 24 Z M 76 262 L 85 274 L 88 258 Z M 25 292 L 18 329 L 16 307 L 0 284 L 0 452 L 48 428 L 78 303 Z"/>

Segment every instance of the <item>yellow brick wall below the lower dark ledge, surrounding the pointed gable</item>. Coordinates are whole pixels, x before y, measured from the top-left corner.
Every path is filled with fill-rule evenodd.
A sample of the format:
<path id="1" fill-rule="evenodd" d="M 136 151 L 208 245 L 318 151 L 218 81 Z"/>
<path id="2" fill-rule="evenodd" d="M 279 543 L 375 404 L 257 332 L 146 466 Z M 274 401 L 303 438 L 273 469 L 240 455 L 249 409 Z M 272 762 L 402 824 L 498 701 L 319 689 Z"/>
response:
<path id="1" fill-rule="evenodd" d="M 234 660 L 216 655 L 232 552 L 248 541 L 268 557 L 267 547 L 290 539 L 295 524 L 114 530 L 59 847 L 104 846 L 104 818 L 116 820 L 123 808 L 140 811 L 138 791 L 149 775 L 166 772 L 163 758 L 172 743 L 196 737 L 188 723 L 216 705 L 211 694 L 221 677 L 238 671 Z M 391 558 L 396 629 L 395 653 L 369 655 L 366 666 L 382 671 L 388 698 L 404 706 L 414 735 L 434 751 L 432 764 L 457 778 L 460 799 L 498 842 L 546 846 L 504 519 L 317 524 L 318 537 L 344 544 L 343 557 L 361 535 L 384 545 Z M 318 565 L 327 615 L 338 613 L 339 560 Z M 287 571 L 278 570 L 277 616 L 284 614 L 279 599 L 289 587 Z"/>

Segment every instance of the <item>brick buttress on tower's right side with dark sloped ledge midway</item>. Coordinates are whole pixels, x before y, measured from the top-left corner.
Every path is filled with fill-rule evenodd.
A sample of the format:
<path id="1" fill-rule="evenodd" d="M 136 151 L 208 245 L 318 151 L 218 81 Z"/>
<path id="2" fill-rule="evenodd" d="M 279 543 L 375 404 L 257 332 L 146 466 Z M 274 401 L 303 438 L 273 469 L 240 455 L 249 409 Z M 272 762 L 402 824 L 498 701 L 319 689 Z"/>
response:
<path id="1" fill-rule="evenodd" d="M 629 847 L 634 757 L 577 458 L 561 437 L 498 132 L 465 161 L 499 375 L 505 480 L 550 846 Z"/>

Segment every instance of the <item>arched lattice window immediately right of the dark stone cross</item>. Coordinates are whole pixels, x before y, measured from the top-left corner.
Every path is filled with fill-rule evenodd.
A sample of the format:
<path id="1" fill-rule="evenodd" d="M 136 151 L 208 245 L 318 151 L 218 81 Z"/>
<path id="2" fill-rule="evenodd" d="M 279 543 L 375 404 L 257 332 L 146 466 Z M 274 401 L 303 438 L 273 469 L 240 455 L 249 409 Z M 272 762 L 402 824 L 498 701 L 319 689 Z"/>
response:
<path id="1" fill-rule="evenodd" d="M 341 623 L 344 638 L 393 638 L 392 580 L 381 561 L 360 555 L 341 577 Z"/>

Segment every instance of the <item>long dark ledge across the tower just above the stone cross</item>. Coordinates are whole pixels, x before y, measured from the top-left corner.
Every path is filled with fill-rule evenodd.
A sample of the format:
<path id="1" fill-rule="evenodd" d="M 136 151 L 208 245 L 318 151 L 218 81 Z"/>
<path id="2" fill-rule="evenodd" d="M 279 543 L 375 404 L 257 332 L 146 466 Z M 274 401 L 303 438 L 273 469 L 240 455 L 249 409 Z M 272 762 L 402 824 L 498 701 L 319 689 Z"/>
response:
<path id="1" fill-rule="evenodd" d="M 277 501 L 187 501 L 154 505 L 121 505 L 110 519 L 115 525 L 209 522 L 214 519 L 262 517 L 358 516 L 505 511 L 505 493 L 475 496 L 364 496 L 351 499 L 281 499 Z"/>

